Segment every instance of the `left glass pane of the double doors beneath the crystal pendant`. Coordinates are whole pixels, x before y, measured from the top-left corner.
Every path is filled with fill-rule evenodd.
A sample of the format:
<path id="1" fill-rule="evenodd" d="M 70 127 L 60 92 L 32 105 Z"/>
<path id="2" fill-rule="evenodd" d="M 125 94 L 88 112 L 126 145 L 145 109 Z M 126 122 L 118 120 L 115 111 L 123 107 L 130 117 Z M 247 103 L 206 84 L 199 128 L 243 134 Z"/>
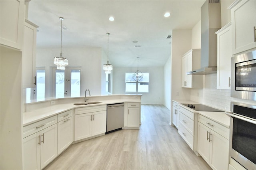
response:
<path id="1" fill-rule="evenodd" d="M 56 98 L 64 97 L 64 89 L 65 89 L 65 70 L 56 70 Z"/>

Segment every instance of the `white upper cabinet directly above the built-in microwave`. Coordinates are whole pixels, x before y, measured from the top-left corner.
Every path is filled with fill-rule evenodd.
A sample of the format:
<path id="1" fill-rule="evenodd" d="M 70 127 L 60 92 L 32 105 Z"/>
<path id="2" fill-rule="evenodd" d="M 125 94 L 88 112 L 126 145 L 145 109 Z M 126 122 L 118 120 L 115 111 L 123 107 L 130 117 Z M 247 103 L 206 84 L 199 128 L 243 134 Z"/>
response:
<path id="1" fill-rule="evenodd" d="M 233 54 L 256 47 L 256 1 L 236 0 L 230 7 Z"/>

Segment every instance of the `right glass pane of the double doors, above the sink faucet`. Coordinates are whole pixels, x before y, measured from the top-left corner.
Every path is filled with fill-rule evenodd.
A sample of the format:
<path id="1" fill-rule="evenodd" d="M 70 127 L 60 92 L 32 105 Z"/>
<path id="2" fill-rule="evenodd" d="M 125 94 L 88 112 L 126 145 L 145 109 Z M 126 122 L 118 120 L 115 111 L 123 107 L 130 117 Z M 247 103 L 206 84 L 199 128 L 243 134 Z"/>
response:
<path id="1" fill-rule="evenodd" d="M 71 70 L 71 97 L 80 97 L 80 70 Z"/>

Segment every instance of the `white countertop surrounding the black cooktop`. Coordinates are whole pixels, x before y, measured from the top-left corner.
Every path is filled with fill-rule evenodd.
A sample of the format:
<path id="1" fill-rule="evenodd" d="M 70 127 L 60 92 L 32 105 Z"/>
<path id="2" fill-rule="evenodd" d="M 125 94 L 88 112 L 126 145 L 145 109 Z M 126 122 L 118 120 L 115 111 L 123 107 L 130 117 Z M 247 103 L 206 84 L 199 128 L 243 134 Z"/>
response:
<path id="1" fill-rule="evenodd" d="M 201 103 L 194 102 L 194 101 L 189 101 L 189 100 L 172 100 L 172 101 L 174 101 L 178 104 L 181 104 L 181 103 L 201 104 Z M 230 117 L 228 117 L 225 114 L 225 111 L 223 111 L 223 112 L 204 112 L 204 111 L 195 111 L 195 110 L 190 109 L 189 107 L 186 107 L 184 105 L 180 105 L 180 107 L 183 107 L 183 108 L 188 109 L 189 111 L 191 111 L 193 113 L 198 113 L 202 116 L 205 116 L 209 119 L 212 119 L 213 121 L 219 123 L 220 125 L 223 125 L 224 127 L 229 128 L 229 126 L 230 126 Z M 215 108 L 215 109 L 218 109 L 218 108 Z M 222 110 L 222 109 L 219 109 L 219 110 Z"/>

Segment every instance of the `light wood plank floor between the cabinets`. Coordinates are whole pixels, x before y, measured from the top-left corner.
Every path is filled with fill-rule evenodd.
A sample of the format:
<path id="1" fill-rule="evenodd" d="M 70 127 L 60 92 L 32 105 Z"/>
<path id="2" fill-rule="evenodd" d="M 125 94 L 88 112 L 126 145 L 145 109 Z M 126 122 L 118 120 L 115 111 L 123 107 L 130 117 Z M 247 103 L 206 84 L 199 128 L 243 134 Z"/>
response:
<path id="1" fill-rule="evenodd" d="M 207 170 L 170 127 L 170 111 L 163 105 L 142 105 L 140 130 L 123 129 L 72 144 L 45 170 Z"/>

